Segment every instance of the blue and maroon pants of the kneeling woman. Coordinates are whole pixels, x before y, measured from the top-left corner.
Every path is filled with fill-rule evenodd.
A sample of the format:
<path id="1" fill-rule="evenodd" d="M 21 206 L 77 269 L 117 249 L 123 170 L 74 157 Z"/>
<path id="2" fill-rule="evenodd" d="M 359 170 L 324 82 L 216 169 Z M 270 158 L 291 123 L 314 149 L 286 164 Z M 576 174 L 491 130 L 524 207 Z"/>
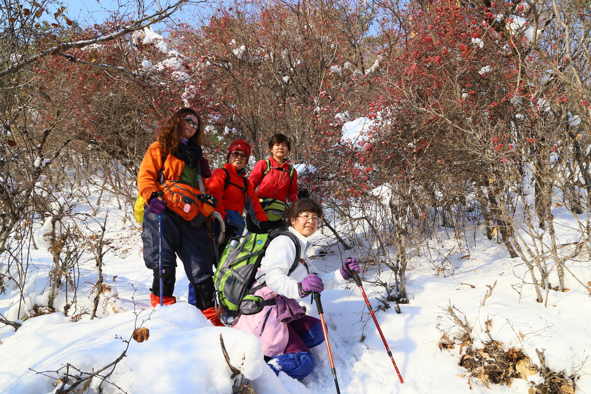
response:
<path id="1" fill-rule="evenodd" d="M 294 379 L 304 379 L 310 375 L 316 364 L 310 349 L 324 342 L 322 323 L 315 317 L 303 318 L 287 324 L 289 339 L 285 353 L 272 357 L 268 362 L 276 375 L 280 371 Z"/>

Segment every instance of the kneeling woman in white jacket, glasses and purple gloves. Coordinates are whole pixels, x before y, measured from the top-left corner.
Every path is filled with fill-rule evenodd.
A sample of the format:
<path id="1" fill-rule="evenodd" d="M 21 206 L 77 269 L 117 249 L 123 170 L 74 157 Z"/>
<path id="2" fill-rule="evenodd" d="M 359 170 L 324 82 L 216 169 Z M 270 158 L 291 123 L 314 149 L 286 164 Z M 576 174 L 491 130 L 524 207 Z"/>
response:
<path id="1" fill-rule="evenodd" d="M 311 198 L 301 198 L 287 211 L 289 231 L 300 242 L 300 259 L 291 273 L 296 259 L 296 245 L 288 236 L 278 236 L 269 243 L 261 263 L 261 274 L 254 286 L 265 282 L 255 295 L 264 299 L 274 298 L 277 305 L 264 307 L 254 315 L 242 315 L 233 327 L 253 333 L 262 343 L 263 353 L 275 373 L 283 371 L 295 379 L 303 379 L 314 369 L 314 356 L 310 349 L 323 343 L 320 320 L 307 316 L 297 303 L 311 292 L 321 292 L 324 287 L 335 287 L 359 272 L 355 258 L 346 259 L 343 267 L 334 272 L 319 273 L 316 267 L 305 261 L 309 246 L 308 237 L 318 229 L 322 207 Z"/>

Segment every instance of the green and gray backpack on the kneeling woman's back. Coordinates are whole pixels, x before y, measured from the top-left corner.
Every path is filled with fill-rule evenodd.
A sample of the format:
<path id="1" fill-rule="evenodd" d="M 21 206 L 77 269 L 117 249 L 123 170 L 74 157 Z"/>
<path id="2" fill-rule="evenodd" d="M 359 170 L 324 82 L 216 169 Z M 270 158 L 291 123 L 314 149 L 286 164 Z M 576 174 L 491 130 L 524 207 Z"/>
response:
<path id="1" fill-rule="evenodd" d="M 265 282 L 255 287 L 252 284 L 267 246 L 280 235 L 290 237 L 296 245 L 296 259 L 287 273 L 290 275 L 303 261 L 300 258 L 300 240 L 286 229 L 272 230 L 267 234 L 247 233 L 241 242 L 233 240 L 226 246 L 213 275 L 216 310 L 224 325 L 232 325 L 240 315 L 252 315 L 267 305 L 276 304 L 274 299 L 265 300 L 254 295 L 255 291 L 265 286 Z"/>

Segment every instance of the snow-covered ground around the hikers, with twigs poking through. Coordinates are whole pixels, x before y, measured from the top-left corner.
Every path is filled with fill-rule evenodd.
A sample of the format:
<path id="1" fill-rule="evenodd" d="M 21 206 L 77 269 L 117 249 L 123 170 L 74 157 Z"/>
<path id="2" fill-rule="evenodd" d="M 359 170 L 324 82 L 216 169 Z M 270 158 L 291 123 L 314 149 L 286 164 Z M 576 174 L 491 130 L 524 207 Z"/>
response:
<path id="1" fill-rule="evenodd" d="M 182 269 L 177 271 L 179 302 L 152 308 L 148 290 L 151 271 L 142 261 L 138 227 L 124 220 L 123 212 L 113 201 L 103 203 L 98 217 L 104 217 L 106 211 L 109 212 L 106 237 L 113 242 L 111 251 L 105 255 L 103 270 L 105 284 L 111 287 L 111 292 L 100 299 L 100 318 L 89 320 L 87 314 L 72 312 L 90 305 L 80 294 L 67 317 L 63 312 L 54 312 L 25 320 L 16 331 L 8 325 L 0 328 L 2 393 L 54 392 L 56 380 L 52 377 L 57 376 L 56 370 L 63 373 L 69 365 L 74 375 L 74 368 L 97 372 L 126 351 L 121 362 L 100 373 L 104 376 L 112 372 L 108 381 L 114 383 L 102 383 L 101 392 L 229 394 L 233 385 L 232 372 L 223 357 L 220 336 L 230 363 L 242 372 L 258 394 L 336 393 L 324 344 L 313 349 L 316 369 L 306 379 L 298 382 L 283 373 L 275 376 L 264 363 L 261 346 L 254 336 L 232 328 L 213 327 L 196 308 L 187 304 L 188 281 Z M 329 236 L 329 232 L 325 235 L 318 232 L 319 245 L 327 245 L 325 236 Z M 43 248 L 43 242 L 39 244 L 40 249 L 21 251 L 23 256 L 30 253 L 33 261 L 25 289 L 25 294 L 30 296 L 28 307 L 47 302 L 49 291 L 47 275 L 52 258 Z M 452 240 L 444 240 L 442 255 L 453 246 Z M 489 384 L 490 391 L 479 380 L 472 379 L 470 389 L 466 369 L 458 365 L 460 352 L 465 350 L 463 346 L 440 349 L 444 333 L 450 338 L 462 336 L 446 312 L 450 305 L 474 328 L 472 336 L 476 345 L 479 340 L 488 339 L 486 330 L 489 330 L 491 337 L 500 341 L 504 349 L 523 349 L 538 365 L 535 349 L 545 349 L 548 367 L 557 372 L 565 370 L 567 375 L 580 375 L 576 392 L 591 393 L 591 363 L 587 359 L 591 351 L 589 292 L 578 284 L 573 284 L 568 292 L 550 291 L 547 307 L 544 307 L 535 302 L 533 289 L 523 284 L 523 264 L 518 259 L 509 259 L 504 248 L 489 242 L 482 230 L 476 230 L 476 236 L 467 246 L 469 252 L 449 256 L 449 264 L 456 268 L 446 275 L 441 272 L 437 275 L 437 269 L 426 256 L 413 259 L 407 270 L 410 303 L 400 305 L 400 314 L 394 308 L 384 311 L 380 307 L 383 304 L 378 298 L 384 297 L 384 288 L 369 282 L 375 282 L 377 277 L 394 283 L 393 273 L 363 272 L 362 276 L 368 279 L 364 282 L 365 291 L 376 310 L 404 384 L 398 380 L 355 284 L 322 292 L 324 319 L 341 393 L 527 393 L 528 380 L 537 382 L 540 375 L 531 375 L 528 380 L 515 379 L 510 387 Z M 342 258 L 346 258 L 339 254 L 337 247 L 318 246 L 310 255 L 317 255 L 320 249 L 327 252 L 314 260 L 320 268 L 337 268 Z M 358 257 L 363 261 L 363 256 Z M 8 259 L 5 258 L 1 256 L 2 273 L 7 273 Z M 87 294 L 96 282 L 93 264 L 90 261 L 76 268 L 83 272 L 78 285 L 80 289 L 86 288 Z M 585 264 L 570 266 L 584 282 L 591 279 L 588 263 Z M 14 270 L 14 265 L 11 269 Z M 492 287 L 495 282 L 492 294 L 481 306 L 489 292 L 488 286 Z M 6 291 L 0 294 L 0 312 L 8 320 L 18 320 L 22 318 L 22 311 L 15 307 L 18 289 L 7 279 L 5 286 Z M 71 297 L 61 292 L 54 304 L 56 310 L 63 311 L 66 303 L 72 304 Z M 317 316 L 316 306 L 310 299 L 303 304 L 309 314 Z M 138 343 L 131 335 L 140 326 L 150 330 L 150 338 Z M 101 379 L 95 377 L 89 388 L 80 393 L 96 393 L 100 384 Z"/>

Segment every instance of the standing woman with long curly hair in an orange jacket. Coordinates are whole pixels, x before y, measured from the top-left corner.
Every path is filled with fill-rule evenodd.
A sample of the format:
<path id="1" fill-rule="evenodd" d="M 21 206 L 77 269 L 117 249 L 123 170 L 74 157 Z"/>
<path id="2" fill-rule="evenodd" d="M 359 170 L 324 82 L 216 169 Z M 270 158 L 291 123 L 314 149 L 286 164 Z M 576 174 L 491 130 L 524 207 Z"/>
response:
<path id="1" fill-rule="evenodd" d="M 202 137 L 200 118 L 193 109 L 181 108 L 174 112 L 158 129 L 157 141 L 150 145 L 142 160 L 138 172 L 138 189 L 147 201 L 144 206 L 142 241 L 145 265 L 154 272 L 150 289 L 152 306 L 160 302 L 158 243 L 161 234 L 163 303 L 176 302 L 173 291 L 178 255 L 197 294 L 197 308 L 209 316 L 212 313 L 215 315 L 213 240 L 207 235 L 203 220 L 188 220 L 181 216 L 183 209 L 186 208 L 184 211 L 188 212 L 190 206 L 187 204 L 178 210 L 173 195 L 166 193 L 170 193 L 174 186 L 192 188 L 200 195 L 209 192 L 203 181 L 211 172 L 207 159 L 203 157 L 200 145 Z M 164 192 L 164 197 L 161 192 Z"/>

